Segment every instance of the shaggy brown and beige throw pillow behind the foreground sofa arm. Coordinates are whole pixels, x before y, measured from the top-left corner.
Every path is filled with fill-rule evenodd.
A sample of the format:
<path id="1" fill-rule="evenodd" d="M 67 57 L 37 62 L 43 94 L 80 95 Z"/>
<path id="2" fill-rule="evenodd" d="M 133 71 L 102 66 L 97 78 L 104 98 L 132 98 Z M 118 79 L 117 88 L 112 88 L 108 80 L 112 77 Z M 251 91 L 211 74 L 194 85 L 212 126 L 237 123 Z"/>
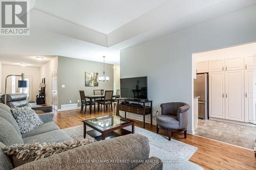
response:
<path id="1" fill-rule="evenodd" d="M 65 152 L 84 144 L 94 142 L 94 138 L 74 139 L 59 143 L 26 143 L 13 144 L 9 147 L 4 147 L 3 151 L 13 158 L 14 167 L 25 163 L 49 157 L 54 154 Z"/>

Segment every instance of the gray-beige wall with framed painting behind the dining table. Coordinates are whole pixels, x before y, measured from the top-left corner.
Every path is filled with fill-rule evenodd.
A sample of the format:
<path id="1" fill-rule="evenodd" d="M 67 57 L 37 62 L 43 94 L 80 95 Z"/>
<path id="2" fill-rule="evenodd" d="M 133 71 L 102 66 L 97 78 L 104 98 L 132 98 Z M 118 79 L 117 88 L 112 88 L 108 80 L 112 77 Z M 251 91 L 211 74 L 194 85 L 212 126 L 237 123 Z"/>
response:
<path id="1" fill-rule="evenodd" d="M 84 90 L 86 95 L 93 94 L 96 89 L 113 90 L 113 64 L 105 64 L 106 76 L 110 77 L 110 81 L 99 82 L 98 87 L 85 86 L 85 71 L 98 72 L 100 77 L 103 73 L 103 63 L 58 56 L 58 109 L 61 109 L 61 105 L 78 103 L 77 100 L 78 106 L 81 106 L 79 90 Z M 65 88 L 62 88 L 62 85 L 65 85 Z"/>

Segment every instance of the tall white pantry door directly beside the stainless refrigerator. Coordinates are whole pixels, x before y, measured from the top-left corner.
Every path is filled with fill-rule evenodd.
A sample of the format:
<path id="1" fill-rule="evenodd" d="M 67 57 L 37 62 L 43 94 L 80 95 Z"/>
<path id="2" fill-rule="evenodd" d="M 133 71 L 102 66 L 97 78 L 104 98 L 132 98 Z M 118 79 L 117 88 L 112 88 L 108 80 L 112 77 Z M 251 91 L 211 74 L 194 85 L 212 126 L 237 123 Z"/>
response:
<path id="1" fill-rule="evenodd" d="M 225 118 L 225 72 L 209 73 L 209 116 Z"/>

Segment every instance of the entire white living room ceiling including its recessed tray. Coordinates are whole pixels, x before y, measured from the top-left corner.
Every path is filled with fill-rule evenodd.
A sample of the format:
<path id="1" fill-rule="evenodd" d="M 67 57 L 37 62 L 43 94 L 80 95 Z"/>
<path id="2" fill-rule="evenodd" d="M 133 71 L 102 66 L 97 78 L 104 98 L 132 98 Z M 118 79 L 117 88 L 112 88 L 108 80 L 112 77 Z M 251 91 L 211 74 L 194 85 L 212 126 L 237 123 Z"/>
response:
<path id="1" fill-rule="evenodd" d="M 1 36 L 8 57 L 67 56 L 119 64 L 120 50 L 256 4 L 256 0 L 33 0 L 29 36 Z M 28 61 L 29 62 L 29 61 Z M 31 60 L 32 62 L 32 60 Z"/>

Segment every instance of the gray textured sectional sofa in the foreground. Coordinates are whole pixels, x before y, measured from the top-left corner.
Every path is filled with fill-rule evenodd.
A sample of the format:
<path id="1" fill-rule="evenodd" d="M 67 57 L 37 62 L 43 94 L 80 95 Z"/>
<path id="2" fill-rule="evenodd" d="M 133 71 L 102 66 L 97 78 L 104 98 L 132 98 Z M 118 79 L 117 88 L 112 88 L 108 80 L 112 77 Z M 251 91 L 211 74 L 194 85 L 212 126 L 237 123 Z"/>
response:
<path id="1" fill-rule="evenodd" d="M 53 113 L 39 114 L 39 117 L 44 124 L 26 134 L 21 134 L 10 107 L 0 103 L 0 148 L 15 143 L 72 140 L 52 122 Z M 83 145 L 14 169 L 162 169 L 161 160 L 156 157 L 149 158 L 149 153 L 148 139 L 139 134 L 131 134 Z M 93 163 L 93 160 L 109 162 Z M 126 162 L 114 163 L 111 160 L 126 160 Z M 141 163 L 141 160 L 144 162 Z M 2 149 L 0 149 L 0 169 L 13 169 L 12 158 Z"/>

